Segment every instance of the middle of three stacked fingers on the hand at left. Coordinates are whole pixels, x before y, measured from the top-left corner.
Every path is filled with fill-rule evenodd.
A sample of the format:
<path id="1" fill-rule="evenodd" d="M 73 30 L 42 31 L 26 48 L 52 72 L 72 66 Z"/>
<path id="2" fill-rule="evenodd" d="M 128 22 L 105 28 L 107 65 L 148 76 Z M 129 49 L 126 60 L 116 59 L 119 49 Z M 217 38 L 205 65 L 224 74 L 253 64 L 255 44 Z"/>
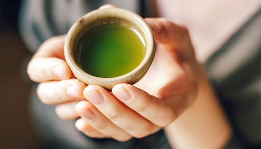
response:
<path id="1" fill-rule="evenodd" d="M 60 104 L 83 99 L 83 90 L 85 87 L 86 84 L 78 79 L 49 81 L 38 85 L 37 94 L 45 104 Z"/>

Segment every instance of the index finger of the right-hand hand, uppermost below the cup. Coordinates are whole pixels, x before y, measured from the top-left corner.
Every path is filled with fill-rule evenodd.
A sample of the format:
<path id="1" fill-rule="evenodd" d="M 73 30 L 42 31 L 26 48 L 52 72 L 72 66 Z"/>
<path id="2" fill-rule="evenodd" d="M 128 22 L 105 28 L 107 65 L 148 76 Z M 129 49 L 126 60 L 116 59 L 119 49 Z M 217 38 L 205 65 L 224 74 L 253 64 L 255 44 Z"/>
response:
<path id="1" fill-rule="evenodd" d="M 177 117 L 176 107 L 130 84 L 118 84 L 112 93 L 124 104 L 154 124 L 165 127 Z"/>

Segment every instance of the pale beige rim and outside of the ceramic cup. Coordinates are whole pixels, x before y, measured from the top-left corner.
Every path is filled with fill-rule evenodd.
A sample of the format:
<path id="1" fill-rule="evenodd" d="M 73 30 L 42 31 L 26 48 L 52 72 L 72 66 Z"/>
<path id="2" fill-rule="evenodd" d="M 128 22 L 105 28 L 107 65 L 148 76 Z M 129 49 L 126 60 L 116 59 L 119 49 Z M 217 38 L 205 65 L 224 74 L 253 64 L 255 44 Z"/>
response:
<path id="1" fill-rule="evenodd" d="M 142 62 L 131 72 L 120 75 L 117 77 L 103 78 L 90 75 L 83 71 L 77 64 L 73 56 L 73 46 L 76 30 L 83 28 L 84 21 L 92 21 L 91 19 L 101 19 L 105 17 L 115 17 L 119 19 L 125 19 L 129 22 L 132 22 L 136 25 L 142 25 L 144 30 L 142 30 L 146 38 L 146 53 Z M 64 54 L 66 62 L 68 63 L 72 73 L 80 81 L 86 84 L 96 84 L 104 87 L 107 90 L 111 90 L 112 87 L 119 83 L 130 83 L 133 84 L 140 80 L 143 75 L 147 72 L 150 67 L 154 56 L 155 56 L 155 39 L 150 27 L 139 15 L 122 8 L 105 8 L 91 11 L 90 13 L 84 15 L 81 19 L 76 21 L 68 32 L 68 35 L 65 40 Z"/>

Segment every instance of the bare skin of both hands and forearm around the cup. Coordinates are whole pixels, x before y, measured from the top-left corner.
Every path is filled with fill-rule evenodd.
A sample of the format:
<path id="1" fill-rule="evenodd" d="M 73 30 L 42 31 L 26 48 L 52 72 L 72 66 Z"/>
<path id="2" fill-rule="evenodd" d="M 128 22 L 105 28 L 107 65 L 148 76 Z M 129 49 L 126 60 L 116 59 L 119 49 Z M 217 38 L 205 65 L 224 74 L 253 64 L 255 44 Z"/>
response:
<path id="1" fill-rule="evenodd" d="M 107 7 L 112 6 L 102 8 Z M 40 100 L 56 104 L 62 119 L 80 117 L 75 127 L 90 137 L 127 141 L 164 129 L 173 148 L 221 148 L 230 137 L 230 126 L 196 61 L 188 30 L 162 18 L 145 21 L 157 50 L 138 83 L 118 84 L 112 92 L 87 86 L 72 75 L 64 60 L 65 36 L 52 37 L 27 67 L 30 79 L 40 83 Z"/>

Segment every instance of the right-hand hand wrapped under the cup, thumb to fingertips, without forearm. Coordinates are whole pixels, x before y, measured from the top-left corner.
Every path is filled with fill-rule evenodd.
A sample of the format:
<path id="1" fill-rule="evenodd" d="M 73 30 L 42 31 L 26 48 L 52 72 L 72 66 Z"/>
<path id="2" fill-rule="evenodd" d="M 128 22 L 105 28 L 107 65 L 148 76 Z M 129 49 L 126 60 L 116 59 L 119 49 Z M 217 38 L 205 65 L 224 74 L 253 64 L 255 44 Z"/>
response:
<path id="1" fill-rule="evenodd" d="M 76 128 L 88 136 L 126 141 L 142 138 L 173 122 L 196 96 L 198 63 L 186 28 L 166 19 L 145 19 L 157 42 L 154 62 L 134 86 L 116 85 L 112 93 L 89 85 L 75 110 Z"/>

